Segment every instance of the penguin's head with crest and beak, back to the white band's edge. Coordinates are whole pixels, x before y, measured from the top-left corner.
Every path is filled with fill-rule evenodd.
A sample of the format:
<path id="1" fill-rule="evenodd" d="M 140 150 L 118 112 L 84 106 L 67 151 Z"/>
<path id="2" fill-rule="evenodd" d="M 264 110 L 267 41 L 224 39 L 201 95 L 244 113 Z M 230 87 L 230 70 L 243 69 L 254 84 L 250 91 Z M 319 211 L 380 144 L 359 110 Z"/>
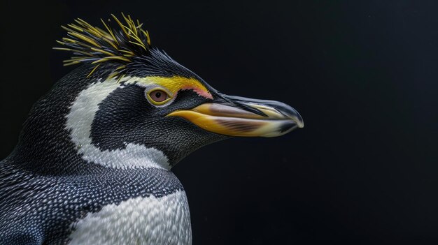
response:
<path id="1" fill-rule="evenodd" d="M 289 105 L 213 89 L 153 47 L 139 22 L 129 15 L 123 20 L 113 15 L 118 28 L 103 22 L 101 29 L 78 19 L 64 27 L 68 36 L 55 48 L 73 52 L 65 65 L 83 64 L 58 87 L 78 91 L 69 101 L 64 131 L 84 161 L 169 169 L 218 140 L 274 137 L 304 126 Z"/>

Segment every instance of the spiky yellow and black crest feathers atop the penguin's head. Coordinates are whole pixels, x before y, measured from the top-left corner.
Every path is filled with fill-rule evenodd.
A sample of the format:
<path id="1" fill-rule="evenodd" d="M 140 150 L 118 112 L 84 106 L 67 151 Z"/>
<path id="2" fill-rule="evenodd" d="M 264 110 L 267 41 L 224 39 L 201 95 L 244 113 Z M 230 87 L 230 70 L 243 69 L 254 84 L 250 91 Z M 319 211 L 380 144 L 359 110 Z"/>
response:
<path id="1" fill-rule="evenodd" d="M 117 23 L 118 29 L 111 27 L 111 20 L 101 20 L 103 28 L 93 27 L 85 20 L 76 19 L 76 23 L 62 26 L 67 31 L 67 36 L 57 43 L 64 47 L 54 47 L 55 50 L 73 52 L 73 57 L 64 60 L 64 66 L 80 63 L 96 64 L 87 77 L 99 67 L 102 62 L 118 62 L 111 77 L 120 75 L 133 57 L 147 55 L 150 50 L 150 37 L 148 31 L 141 29 L 139 20 L 134 22 L 131 16 L 122 13 L 122 21 L 111 15 Z"/>

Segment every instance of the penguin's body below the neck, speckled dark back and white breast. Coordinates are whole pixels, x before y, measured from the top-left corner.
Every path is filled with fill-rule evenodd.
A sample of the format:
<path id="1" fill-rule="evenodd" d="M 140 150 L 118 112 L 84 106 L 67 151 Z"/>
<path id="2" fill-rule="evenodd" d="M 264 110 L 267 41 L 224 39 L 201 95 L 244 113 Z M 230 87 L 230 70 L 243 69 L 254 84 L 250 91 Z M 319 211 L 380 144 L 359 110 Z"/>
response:
<path id="1" fill-rule="evenodd" d="M 0 244 L 191 244 L 185 192 L 167 170 L 44 177 L 3 164 Z"/>

